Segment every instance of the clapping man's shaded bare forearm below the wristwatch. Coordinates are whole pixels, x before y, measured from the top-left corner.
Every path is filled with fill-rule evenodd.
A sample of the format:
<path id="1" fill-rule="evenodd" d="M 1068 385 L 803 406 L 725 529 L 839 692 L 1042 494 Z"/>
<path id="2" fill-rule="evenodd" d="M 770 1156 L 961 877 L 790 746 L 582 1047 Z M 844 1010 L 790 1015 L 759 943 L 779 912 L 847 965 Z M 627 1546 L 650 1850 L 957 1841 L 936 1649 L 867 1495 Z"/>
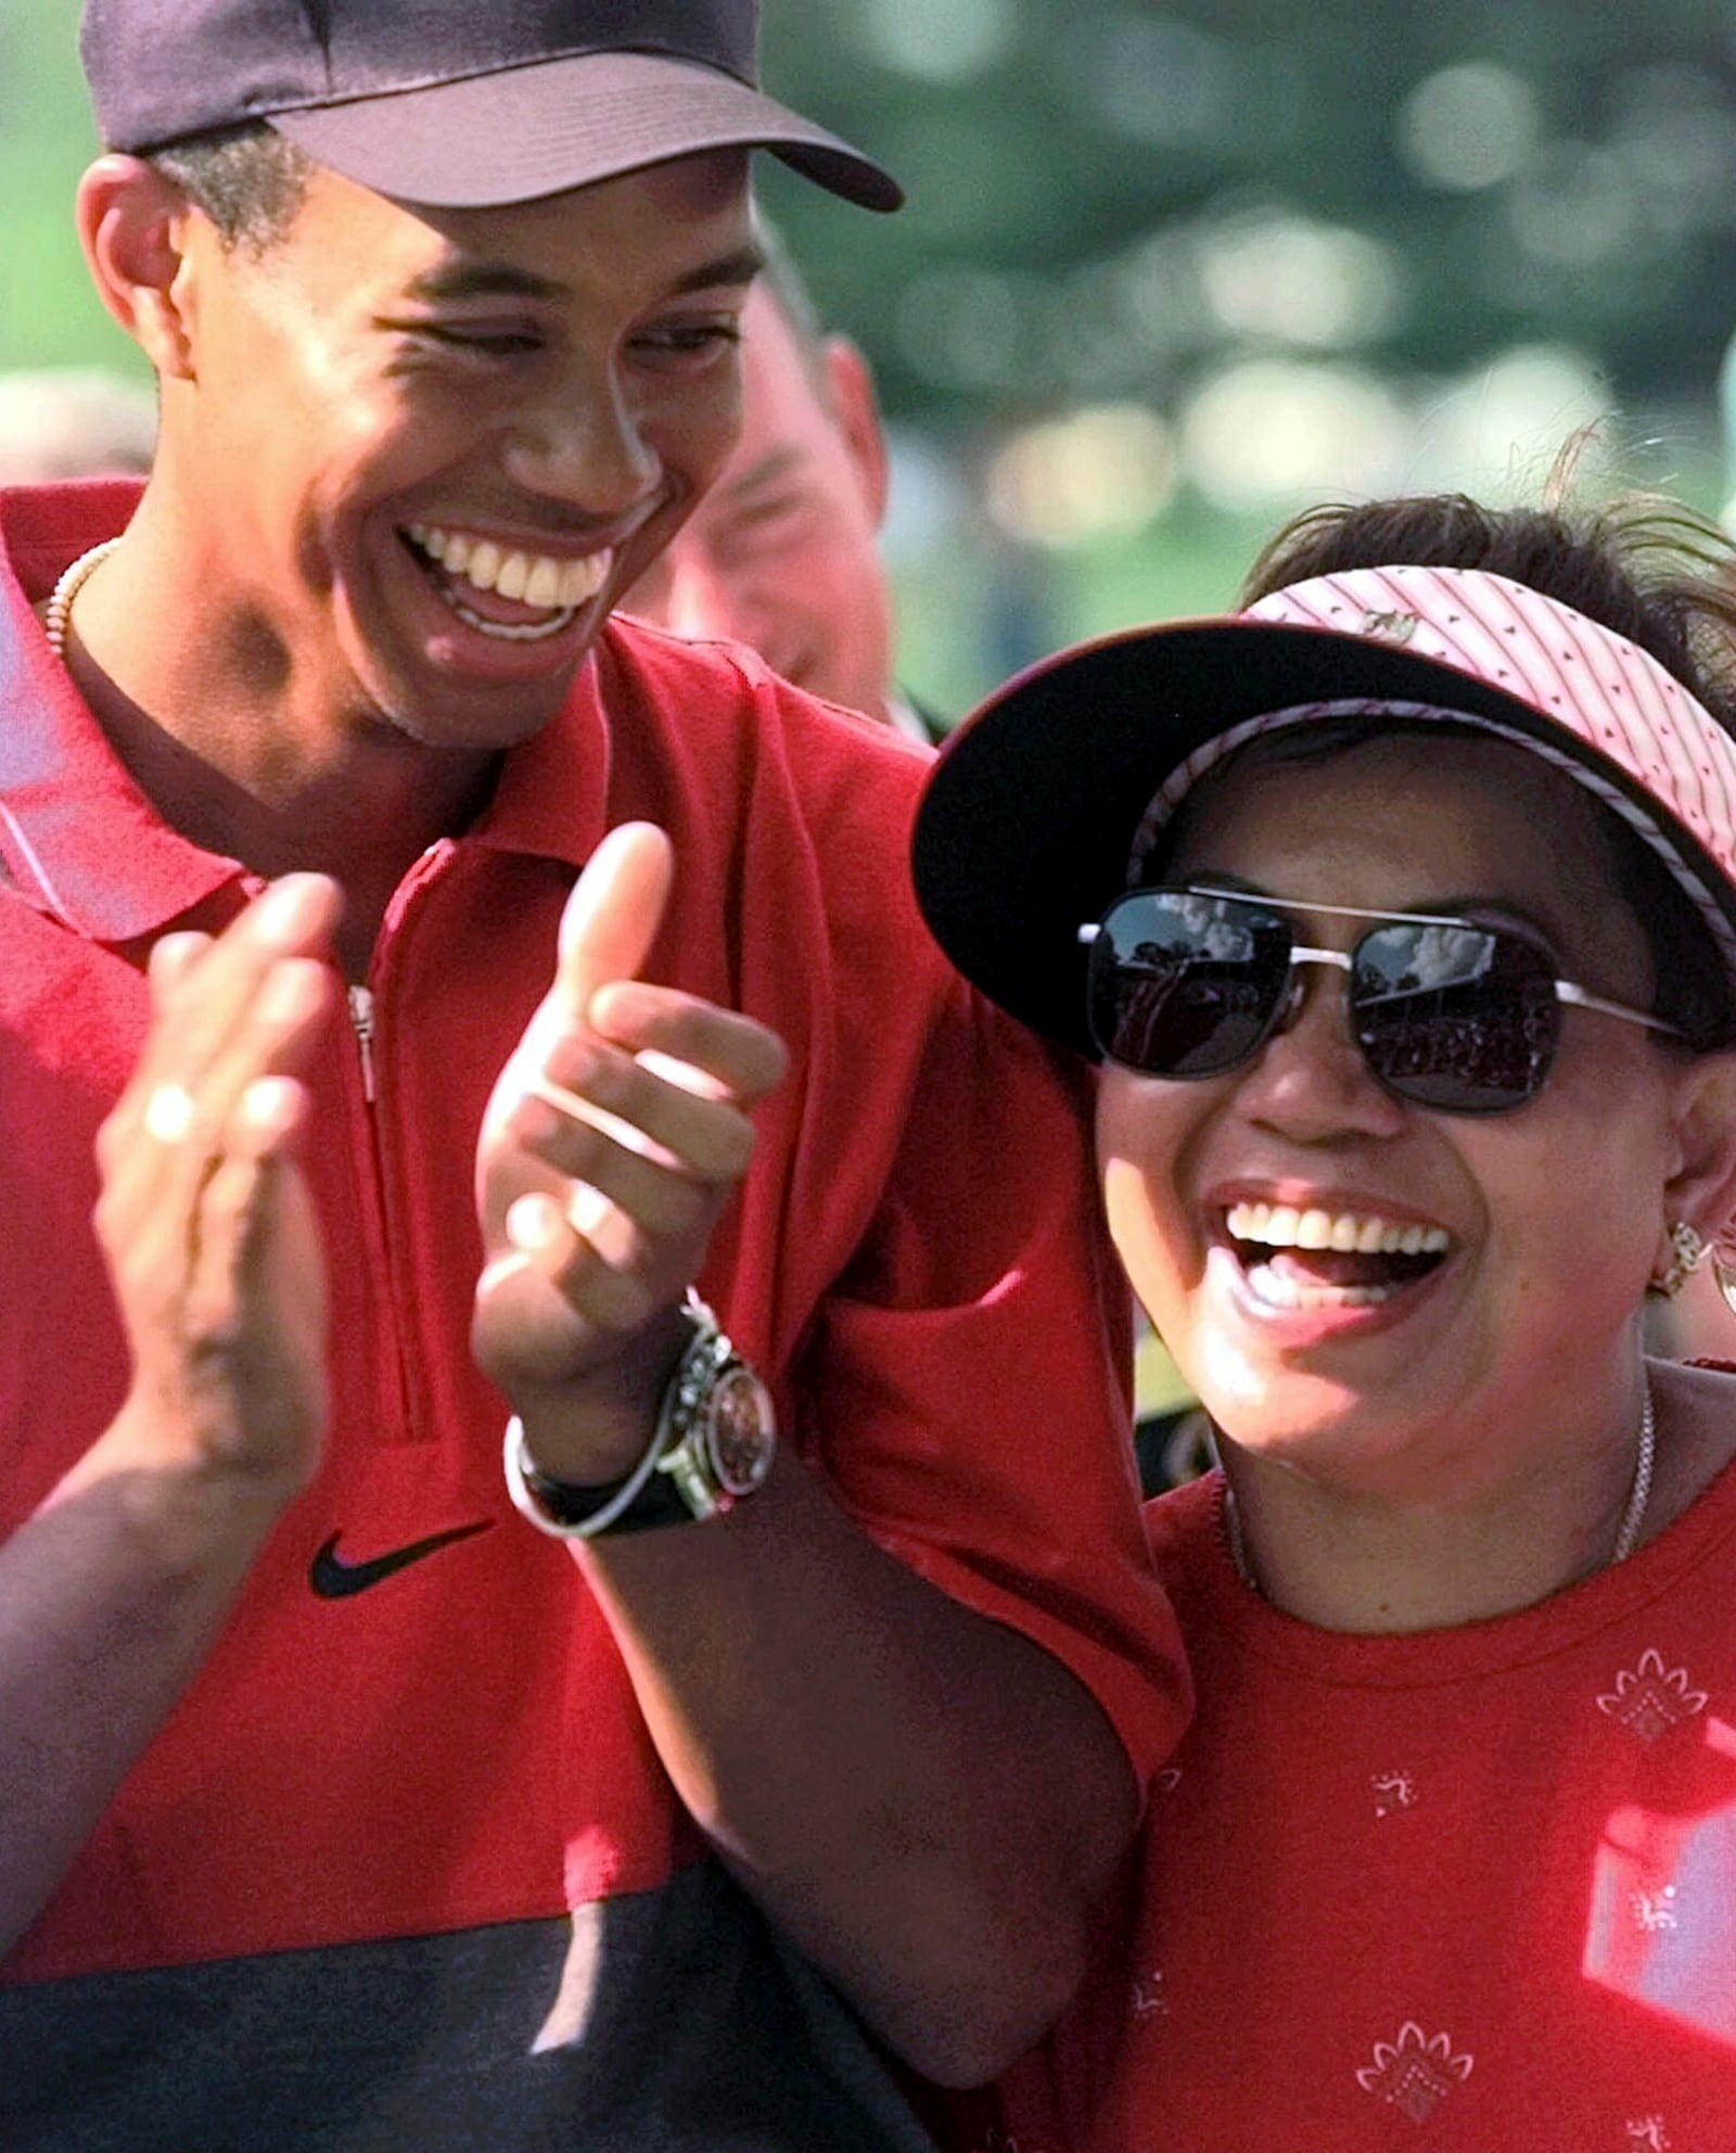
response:
<path id="1" fill-rule="evenodd" d="M 1086 1688 L 793 1458 L 732 1516 L 582 1565 L 700 1828 L 870 2024 L 956 2084 L 1030 2045 L 1137 1806 Z"/>

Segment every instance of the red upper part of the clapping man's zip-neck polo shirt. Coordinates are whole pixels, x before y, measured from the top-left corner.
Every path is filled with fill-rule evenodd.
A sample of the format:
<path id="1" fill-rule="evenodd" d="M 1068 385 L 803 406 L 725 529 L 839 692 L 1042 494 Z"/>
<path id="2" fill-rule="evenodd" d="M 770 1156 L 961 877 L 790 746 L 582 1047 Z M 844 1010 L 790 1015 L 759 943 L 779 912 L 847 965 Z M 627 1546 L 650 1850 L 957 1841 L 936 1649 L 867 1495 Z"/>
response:
<path id="1" fill-rule="evenodd" d="M 256 887 L 136 790 L 30 614 L 129 508 L 0 497 L 0 1533 L 125 1391 L 93 1137 L 140 1049 L 146 952 Z M 405 876 L 370 967 L 373 1098 L 342 1027 L 312 1072 L 327 1462 L 13 1983 L 558 1916 L 683 1864 L 607 1626 L 506 1503 L 506 1408 L 467 1352 L 482 1104 L 575 872 L 627 818 L 678 863 L 650 973 L 790 1049 L 702 1290 L 862 1526 L 1062 1660 L 1142 1778 L 1167 1755 L 1187 1684 L 1139 1533 L 1083 1092 L 928 943 L 905 876 L 922 771 L 741 650 L 616 622 L 478 822 Z M 364 1563 L 459 1526 L 368 1591 L 310 1589 L 334 1535 Z"/>

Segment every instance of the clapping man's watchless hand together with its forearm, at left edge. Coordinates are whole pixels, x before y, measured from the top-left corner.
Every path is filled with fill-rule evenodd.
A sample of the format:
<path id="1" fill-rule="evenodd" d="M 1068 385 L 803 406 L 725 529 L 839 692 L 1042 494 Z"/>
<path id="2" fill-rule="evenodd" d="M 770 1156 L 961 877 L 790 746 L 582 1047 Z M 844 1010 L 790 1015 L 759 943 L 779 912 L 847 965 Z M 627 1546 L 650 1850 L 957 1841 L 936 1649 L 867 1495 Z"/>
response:
<path id="1" fill-rule="evenodd" d="M 0 1957 L 319 1464 L 325 1272 L 297 1072 L 332 1014 L 336 919 L 336 885 L 291 874 L 215 941 L 151 952 L 151 1033 L 97 1135 L 131 1389 L 0 1546 Z"/>

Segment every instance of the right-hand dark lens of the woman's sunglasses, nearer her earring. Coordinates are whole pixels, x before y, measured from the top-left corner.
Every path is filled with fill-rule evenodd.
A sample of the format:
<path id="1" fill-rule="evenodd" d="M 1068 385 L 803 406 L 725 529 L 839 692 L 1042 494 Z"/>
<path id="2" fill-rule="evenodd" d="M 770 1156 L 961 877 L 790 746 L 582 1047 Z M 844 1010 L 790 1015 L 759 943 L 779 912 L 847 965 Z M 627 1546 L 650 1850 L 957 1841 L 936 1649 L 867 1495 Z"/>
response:
<path id="1" fill-rule="evenodd" d="M 1495 928 L 1374 928 L 1357 943 L 1350 1008 L 1381 1083 L 1441 1113 L 1536 1098 L 1562 1031 L 1549 956 Z"/>

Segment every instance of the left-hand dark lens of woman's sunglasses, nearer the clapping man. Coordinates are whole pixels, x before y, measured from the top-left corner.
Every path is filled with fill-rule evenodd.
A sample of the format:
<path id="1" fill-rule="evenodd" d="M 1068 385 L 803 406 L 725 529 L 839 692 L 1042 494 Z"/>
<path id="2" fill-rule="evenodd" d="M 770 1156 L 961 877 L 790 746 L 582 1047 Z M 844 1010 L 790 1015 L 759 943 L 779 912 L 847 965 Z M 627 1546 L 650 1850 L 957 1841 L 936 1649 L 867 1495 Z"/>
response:
<path id="1" fill-rule="evenodd" d="M 1133 889 L 1090 956 L 1088 1016 L 1109 1061 L 1221 1076 L 1260 1046 L 1290 973 L 1290 930 L 1260 904 Z"/>

